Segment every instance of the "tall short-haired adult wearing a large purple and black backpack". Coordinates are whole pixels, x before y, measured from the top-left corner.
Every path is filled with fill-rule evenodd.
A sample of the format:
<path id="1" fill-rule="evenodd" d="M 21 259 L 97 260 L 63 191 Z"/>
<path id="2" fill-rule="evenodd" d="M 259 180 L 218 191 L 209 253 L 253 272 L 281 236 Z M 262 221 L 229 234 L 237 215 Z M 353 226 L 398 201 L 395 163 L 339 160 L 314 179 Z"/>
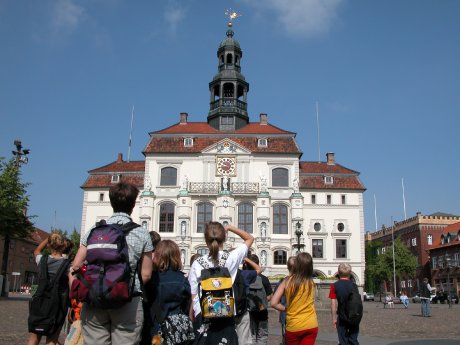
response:
<path id="1" fill-rule="evenodd" d="M 81 238 L 71 272 L 78 272 L 72 293 L 80 294 L 84 301 L 81 322 L 85 345 L 140 341 L 144 315 L 137 267 L 140 261 L 139 273 L 146 283 L 152 274 L 153 247 L 148 231 L 130 217 L 138 194 L 137 187 L 129 183 L 112 186 L 109 198 L 113 215 Z M 85 260 L 87 266 L 83 266 Z M 98 267 L 99 276 L 94 276 Z M 124 274 L 111 279 L 111 273 L 118 274 L 121 268 Z"/>

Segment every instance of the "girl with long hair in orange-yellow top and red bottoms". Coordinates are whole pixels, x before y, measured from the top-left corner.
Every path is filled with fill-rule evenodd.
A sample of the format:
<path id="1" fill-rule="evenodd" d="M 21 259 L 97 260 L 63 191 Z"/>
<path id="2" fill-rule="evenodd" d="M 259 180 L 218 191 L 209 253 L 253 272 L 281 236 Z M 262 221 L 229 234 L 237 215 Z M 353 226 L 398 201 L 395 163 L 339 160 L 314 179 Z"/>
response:
<path id="1" fill-rule="evenodd" d="M 287 345 L 313 345 L 318 335 L 312 275 L 311 255 L 299 253 L 292 274 L 281 282 L 272 297 L 271 306 L 286 311 Z M 286 307 L 280 303 L 283 294 L 286 296 Z"/>

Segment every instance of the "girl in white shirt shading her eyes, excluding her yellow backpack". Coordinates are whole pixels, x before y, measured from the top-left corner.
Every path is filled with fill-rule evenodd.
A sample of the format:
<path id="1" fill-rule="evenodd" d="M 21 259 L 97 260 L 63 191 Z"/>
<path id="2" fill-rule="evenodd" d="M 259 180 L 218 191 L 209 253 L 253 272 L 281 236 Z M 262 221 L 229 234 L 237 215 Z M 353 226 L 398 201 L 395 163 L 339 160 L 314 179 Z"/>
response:
<path id="1" fill-rule="evenodd" d="M 225 261 L 224 266 L 227 267 L 232 277 L 232 283 L 235 282 L 236 273 L 238 267 L 248 253 L 248 249 L 254 242 L 254 237 L 244 230 L 238 229 L 232 225 L 225 225 L 225 227 L 219 222 L 209 222 L 206 225 L 204 232 L 204 238 L 206 245 L 209 249 L 209 255 L 204 256 L 203 259 L 211 267 L 216 267 L 219 264 L 219 260 L 224 254 L 224 243 L 227 239 L 227 232 L 233 232 L 235 235 L 241 237 L 244 243 L 238 245 L 234 250 L 228 254 L 228 258 Z M 201 318 L 201 307 L 198 297 L 199 282 L 201 279 L 201 270 L 203 267 L 197 260 L 193 262 L 190 268 L 188 280 L 192 291 L 192 306 L 190 308 L 190 318 Z M 201 324 L 199 322 L 199 324 Z M 202 324 L 198 329 L 198 344 L 219 344 L 224 343 L 226 345 L 238 344 L 238 337 L 235 331 L 235 320 L 234 318 L 223 318 L 209 323 Z"/>

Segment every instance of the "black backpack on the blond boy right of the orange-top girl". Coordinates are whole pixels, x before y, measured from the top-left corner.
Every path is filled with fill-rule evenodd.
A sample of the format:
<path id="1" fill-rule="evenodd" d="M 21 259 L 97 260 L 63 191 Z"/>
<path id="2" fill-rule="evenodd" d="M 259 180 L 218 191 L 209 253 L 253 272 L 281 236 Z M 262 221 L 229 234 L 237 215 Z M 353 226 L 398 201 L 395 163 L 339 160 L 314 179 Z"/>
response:
<path id="1" fill-rule="evenodd" d="M 339 282 L 340 280 L 337 283 Z M 345 297 L 337 294 L 339 318 L 349 326 L 358 326 L 363 318 L 363 301 L 358 286 L 353 282 L 348 285 L 348 293 L 344 295 Z"/>

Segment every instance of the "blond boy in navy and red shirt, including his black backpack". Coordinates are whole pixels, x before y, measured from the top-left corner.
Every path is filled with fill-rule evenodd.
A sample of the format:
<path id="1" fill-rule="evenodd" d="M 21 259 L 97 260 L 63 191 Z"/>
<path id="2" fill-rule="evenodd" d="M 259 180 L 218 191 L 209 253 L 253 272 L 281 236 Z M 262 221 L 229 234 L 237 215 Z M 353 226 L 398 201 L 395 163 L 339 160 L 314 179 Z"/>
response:
<path id="1" fill-rule="evenodd" d="M 358 287 L 350 280 L 351 266 L 339 265 L 339 280 L 331 285 L 332 325 L 337 328 L 339 345 L 359 345 L 359 323 L 363 316 L 363 303 Z"/>

